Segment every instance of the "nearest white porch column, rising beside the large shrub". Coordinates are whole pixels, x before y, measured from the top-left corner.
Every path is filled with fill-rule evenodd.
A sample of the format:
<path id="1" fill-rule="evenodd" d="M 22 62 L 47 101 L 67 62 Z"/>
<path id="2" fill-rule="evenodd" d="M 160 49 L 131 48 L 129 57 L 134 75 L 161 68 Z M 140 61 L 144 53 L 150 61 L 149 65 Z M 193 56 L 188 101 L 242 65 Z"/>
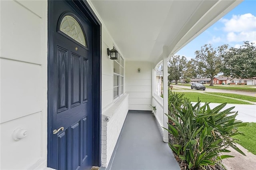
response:
<path id="1" fill-rule="evenodd" d="M 163 90 L 164 90 L 164 113 L 168 114 L 168 49 L 167 47 L 163 47 Z M 168 129 L 168 117 L 164 115 L 163 127 Z M 168 142 L 168 131 L 164 129 L 163 135 L 164 142 Z"/>

